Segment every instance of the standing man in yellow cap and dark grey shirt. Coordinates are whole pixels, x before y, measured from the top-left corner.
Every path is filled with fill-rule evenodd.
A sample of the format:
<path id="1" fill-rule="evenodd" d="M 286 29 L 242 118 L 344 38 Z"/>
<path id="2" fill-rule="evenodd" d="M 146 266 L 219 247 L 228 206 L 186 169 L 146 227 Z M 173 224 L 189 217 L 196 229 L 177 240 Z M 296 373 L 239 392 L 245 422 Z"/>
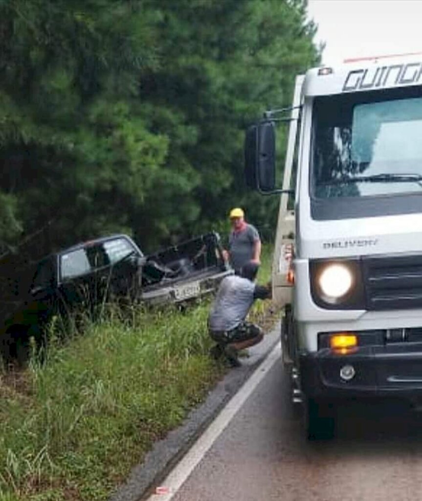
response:
<path id="1" fill-rule="evenodd" d="M 258 230 L 245 221 L 245 213 L 236 207 L 229 214 L 232 230 L 229 235 L 229 250 L 225 257 L 230 261 L 236 274 L 246 263 L 260 265 L 261 239 Z"/>

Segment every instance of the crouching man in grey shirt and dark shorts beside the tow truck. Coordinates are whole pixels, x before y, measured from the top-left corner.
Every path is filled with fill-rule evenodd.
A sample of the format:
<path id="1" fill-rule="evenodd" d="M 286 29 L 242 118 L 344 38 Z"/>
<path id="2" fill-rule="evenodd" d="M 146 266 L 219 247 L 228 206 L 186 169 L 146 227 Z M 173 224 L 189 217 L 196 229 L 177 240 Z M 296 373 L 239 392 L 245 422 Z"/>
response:
<path id="1" fill-rule="evenodd" d="M 212 355 L 225 356 L 233 367 L 240 365 L 239 351 L 256 345 L 264 335 L 260 327 L 245 321 L 255 299 L 271 297 L 270 287 L 254 284 L 257 272 L 258 265 L 249 262 L 240 275 L 223 279 L 208 318 L 210 336 L 217 343 Z"/>

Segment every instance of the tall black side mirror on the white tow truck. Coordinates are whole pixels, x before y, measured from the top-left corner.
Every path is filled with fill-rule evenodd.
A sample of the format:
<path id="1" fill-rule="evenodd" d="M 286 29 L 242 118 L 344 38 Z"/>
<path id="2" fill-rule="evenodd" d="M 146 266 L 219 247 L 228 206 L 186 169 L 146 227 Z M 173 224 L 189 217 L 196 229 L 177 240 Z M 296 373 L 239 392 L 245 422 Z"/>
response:
<path id="1" fill-rule="evenodd" d="M 249 188 L 275 189 L 275 127 L 273 122 L 251 125 L 245 136 L 245 178 Z"/>

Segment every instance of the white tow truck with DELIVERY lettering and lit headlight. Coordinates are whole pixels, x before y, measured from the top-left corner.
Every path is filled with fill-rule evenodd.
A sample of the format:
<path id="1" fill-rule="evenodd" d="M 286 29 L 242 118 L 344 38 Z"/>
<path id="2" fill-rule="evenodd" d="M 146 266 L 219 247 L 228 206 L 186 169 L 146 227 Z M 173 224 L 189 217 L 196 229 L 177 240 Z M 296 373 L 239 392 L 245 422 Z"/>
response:
<path id="1" fill-rule="evenodd" d="M 288 121 L 282 189 L 275 129 Z M 281 193 L 272 271 L 283 362 L 309 439 L 343 398 L 422 399 L 422 55 L 296 78 L 245 139 L 247 184 Z M 289 197 L 294 203 L 289 205 Z"/>

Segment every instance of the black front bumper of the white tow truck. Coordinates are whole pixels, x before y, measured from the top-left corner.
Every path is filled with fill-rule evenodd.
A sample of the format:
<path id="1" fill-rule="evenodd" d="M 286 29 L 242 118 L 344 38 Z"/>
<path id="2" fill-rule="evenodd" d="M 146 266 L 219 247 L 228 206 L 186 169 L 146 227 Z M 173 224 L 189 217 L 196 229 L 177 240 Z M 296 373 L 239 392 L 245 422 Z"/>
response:
<path id="1" fill-rule="evenodd" d="M 340 370 L 351 365 L 354 377 Z M 311 398 L 362 396 L 422 397 L 422 343 L 364 346 L 341 355 L 329 348 L 299 355 L 301 389 Z"/>

